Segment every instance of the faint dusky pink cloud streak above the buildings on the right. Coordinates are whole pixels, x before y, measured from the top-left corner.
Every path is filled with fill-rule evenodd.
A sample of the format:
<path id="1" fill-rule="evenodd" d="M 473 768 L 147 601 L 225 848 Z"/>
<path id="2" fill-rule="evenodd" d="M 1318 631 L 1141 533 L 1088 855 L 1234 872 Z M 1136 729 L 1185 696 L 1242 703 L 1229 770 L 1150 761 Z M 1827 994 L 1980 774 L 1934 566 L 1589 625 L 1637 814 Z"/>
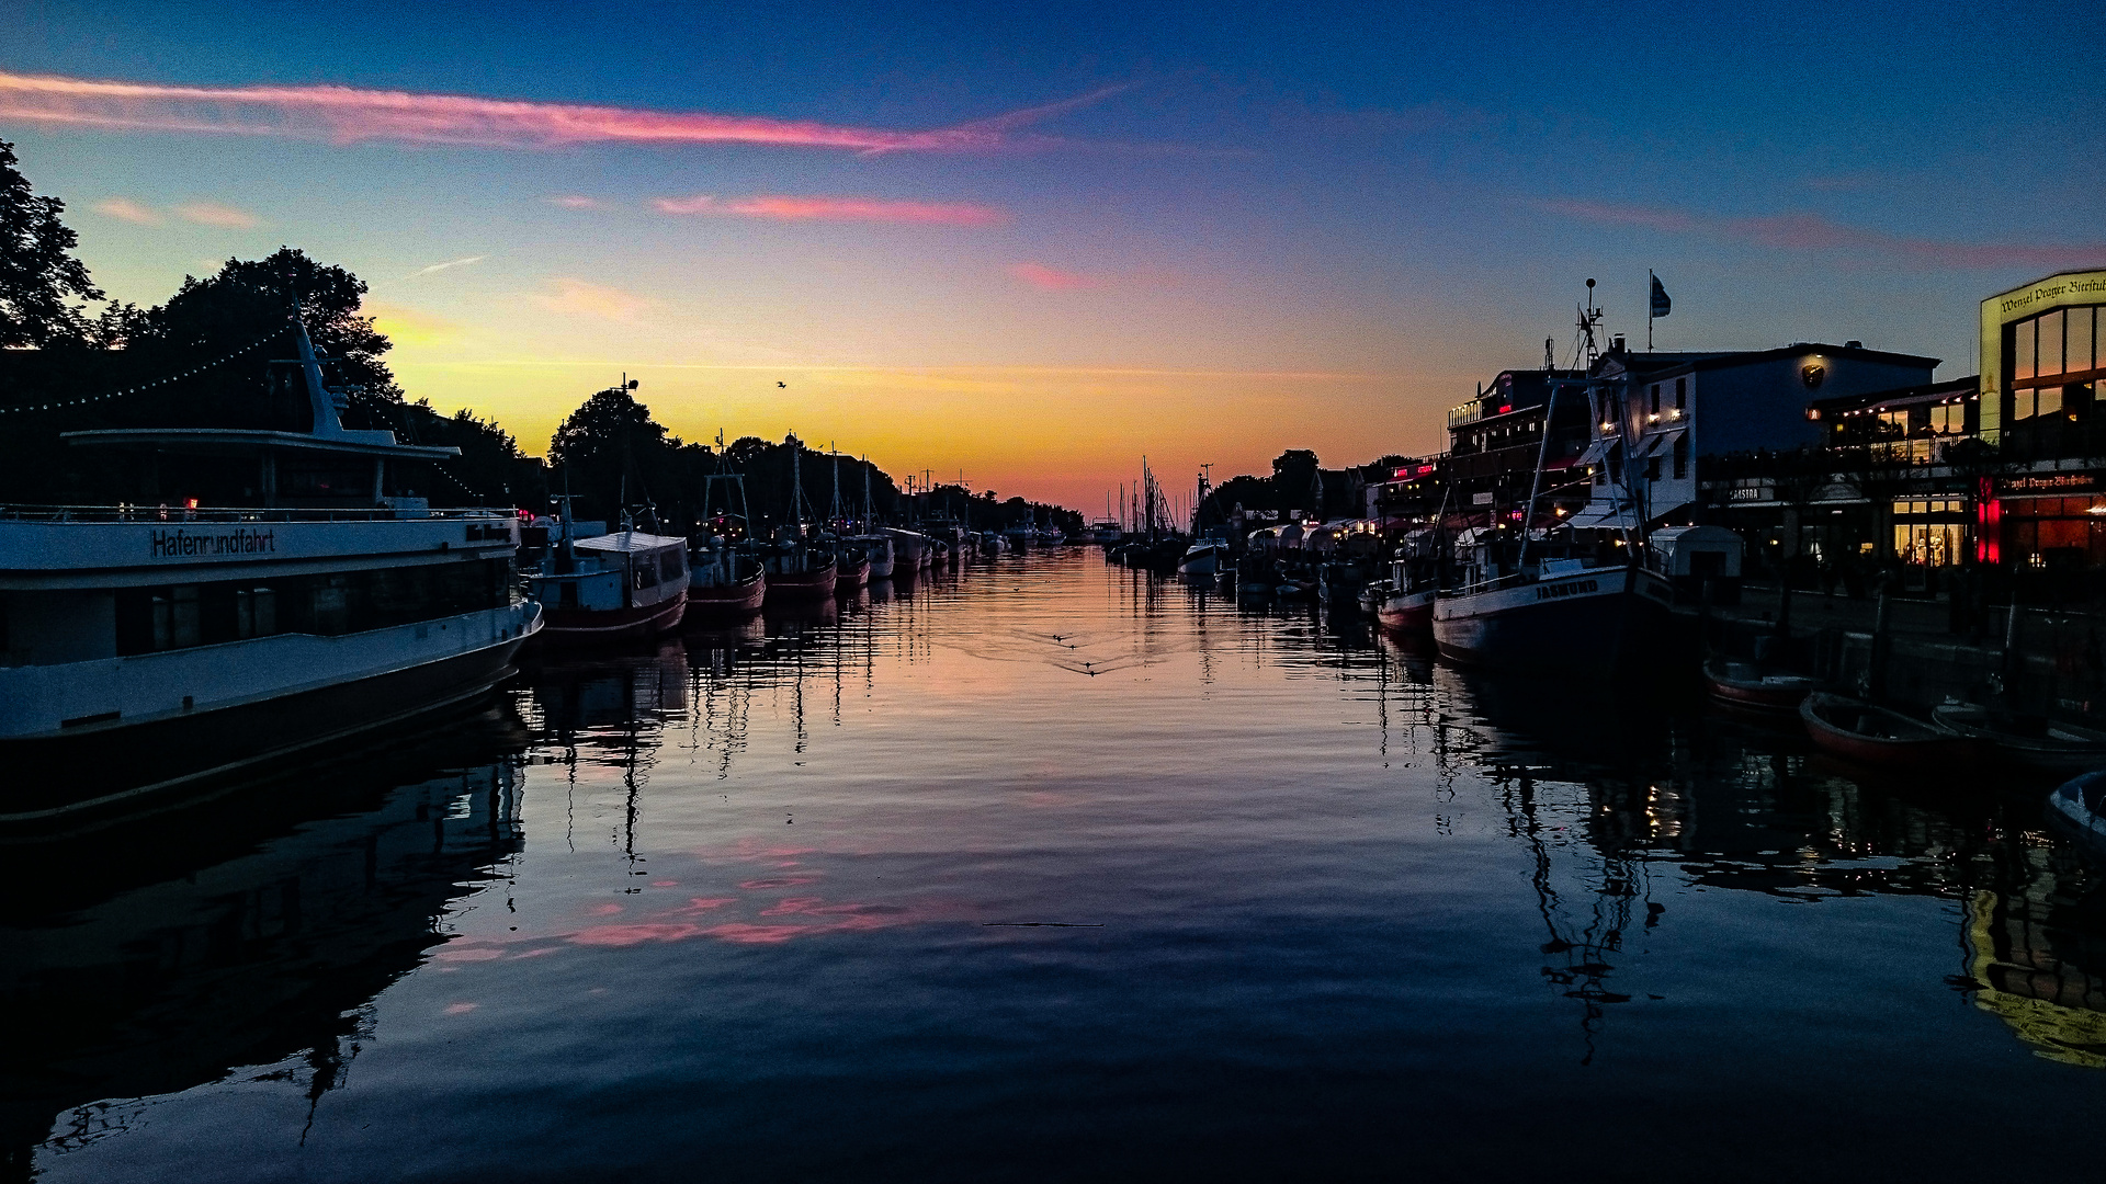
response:
<path id="1" fill-rule="evenodd" d="M 1938 268 L 2066 268 L 2095 265 L 2106 244 L 2018 244 L 1952 242 L 1910 238 L 1843 225 L 1822 215 L 1792 213 L 1767 217 L 1706 217 L 1683 211 L 1622 206 L 1607 202 L 1539 202 L 1550 213 L 1607 225 L 1638 225 L 1664 234 L 1704 232 L 1718 238 L 1775 246 L 1780 251 L 1828 251 L 1839 255 L 1885 255 Z"/>

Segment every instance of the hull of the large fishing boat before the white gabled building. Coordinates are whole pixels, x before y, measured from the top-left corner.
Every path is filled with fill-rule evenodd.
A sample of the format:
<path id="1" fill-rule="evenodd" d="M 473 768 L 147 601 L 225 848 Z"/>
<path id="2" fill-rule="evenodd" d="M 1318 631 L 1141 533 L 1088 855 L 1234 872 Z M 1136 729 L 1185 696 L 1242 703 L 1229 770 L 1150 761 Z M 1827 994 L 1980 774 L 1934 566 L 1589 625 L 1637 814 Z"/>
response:
<path id="1" fill-rule="evenodd" d="M 1651 651 L 1666 634 L 1672 598 L 1666 579 L 1634 567 L 1441 596 L 1432 605 L 1434 645 L 1470 666 L 1601 668 Z"/>

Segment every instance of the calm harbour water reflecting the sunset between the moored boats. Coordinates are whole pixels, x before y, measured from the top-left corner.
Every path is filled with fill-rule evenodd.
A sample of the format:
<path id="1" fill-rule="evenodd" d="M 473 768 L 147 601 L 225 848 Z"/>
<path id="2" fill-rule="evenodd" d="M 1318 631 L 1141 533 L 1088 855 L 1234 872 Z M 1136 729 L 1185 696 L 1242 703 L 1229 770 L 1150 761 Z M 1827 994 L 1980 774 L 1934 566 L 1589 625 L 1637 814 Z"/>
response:
<path id="1" fill-rule="evenodd" d="M 1082 550 L 550 664 L 6 849 L 6 1163 L 2098 1178 L 2106 889 L 2043 788 L 1657 691 Z"/>

